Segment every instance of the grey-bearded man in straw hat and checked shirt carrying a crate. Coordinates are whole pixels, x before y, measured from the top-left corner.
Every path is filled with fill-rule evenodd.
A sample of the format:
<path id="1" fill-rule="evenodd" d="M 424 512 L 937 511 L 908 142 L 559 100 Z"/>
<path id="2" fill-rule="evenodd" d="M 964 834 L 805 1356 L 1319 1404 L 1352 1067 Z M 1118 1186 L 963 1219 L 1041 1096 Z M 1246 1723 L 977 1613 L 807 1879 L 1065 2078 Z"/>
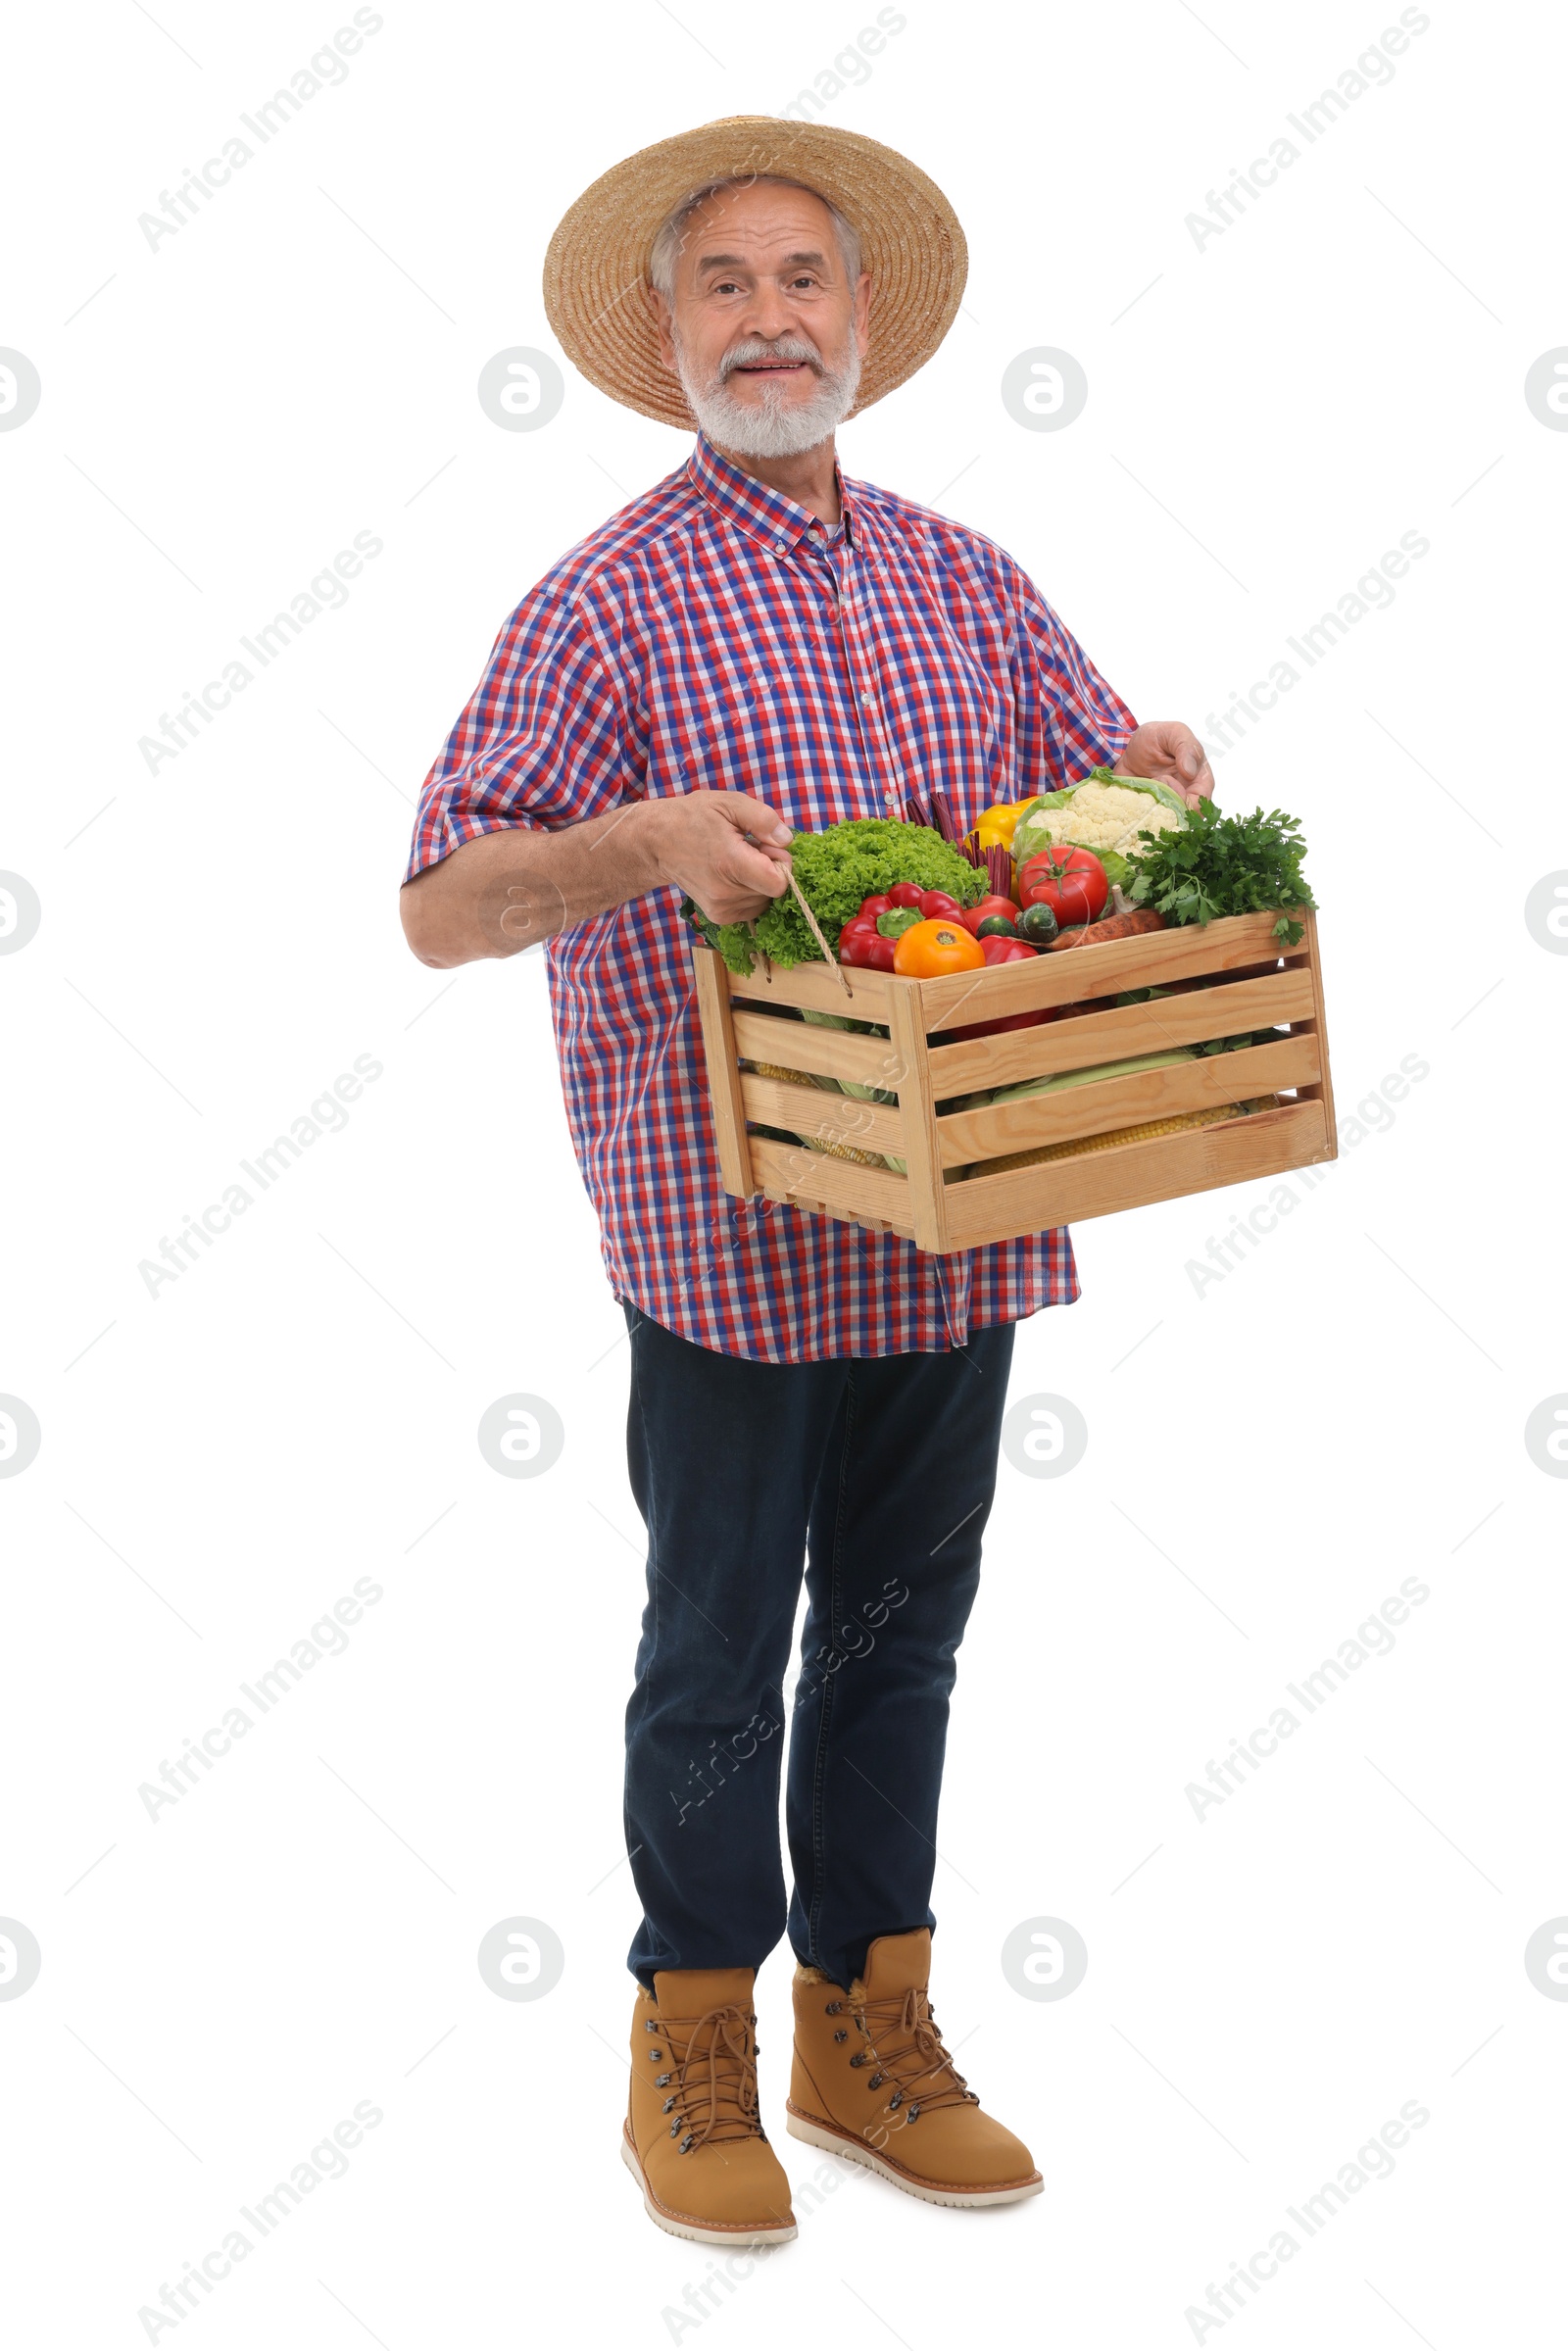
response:
<path id="1" fill-rule="evenodd" d="M 402 893 L 437 969 L 548 938 L 649 1533 L 623 2156 L 649 2217 L 712 2245 L 795 2236 L 755 2041 L 785 1923 L 785 2128 L 933 2205 L 1041 2186 L 931 2015 L 931 1871 L 1013 1324 L 1077 1295 L 1072 1246 L 936 1258 L 731 1199 L 677 915 L 682 891 L 715 922 L 757 915 L 792 828 L 900 813 L 912 788 L 961 828 L 1100 762 L 1213 788 L 1192 731 L 1135 726 L 997 545 L 837 468 L 837 426 L 936 350 L 964 268 L 926 174 L 820 125 L 715 122 L 578 197 L 545 261 L 550 322 L 602 390 L 696 423 L 696 449 L 501 630 Z"/>

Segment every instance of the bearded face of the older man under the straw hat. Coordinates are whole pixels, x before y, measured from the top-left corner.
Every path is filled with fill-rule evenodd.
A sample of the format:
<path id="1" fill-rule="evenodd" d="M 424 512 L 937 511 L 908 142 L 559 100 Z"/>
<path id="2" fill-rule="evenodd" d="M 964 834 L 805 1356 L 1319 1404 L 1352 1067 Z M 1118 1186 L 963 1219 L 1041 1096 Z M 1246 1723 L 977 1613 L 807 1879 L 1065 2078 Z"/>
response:
<path id="1" fill-rule="evenodd" d="M 651 294 L 665 367 L 698 423 L 745 456 L 795 456 L 853 407 L 870 277 L 851 282 L 818 195 L 719 188 L 684 228 L 675 299 Z"/>

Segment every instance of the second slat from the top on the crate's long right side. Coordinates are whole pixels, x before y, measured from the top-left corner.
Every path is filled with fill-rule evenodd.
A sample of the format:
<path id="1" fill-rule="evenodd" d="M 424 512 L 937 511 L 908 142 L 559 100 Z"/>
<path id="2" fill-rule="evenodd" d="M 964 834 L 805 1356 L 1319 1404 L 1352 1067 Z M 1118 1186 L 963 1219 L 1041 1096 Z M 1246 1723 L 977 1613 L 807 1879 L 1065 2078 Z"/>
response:
<path id="1" fill-rule="evenodd" d="M 1006 976 L 1011 964 L 1001 971 Z M 931 1084 L 936 1098 L 947 1100 L 954 1093 L 976 1093 L 980 1086 L 1016 1086 L 1025 1077 L 1053 1077 L 1058 1070 L 1091 1070 L 1100 1060 L 1164 1053 L 1173 1044 L 1206 1044 L 1211 1037 L 1239 1037 L 1241 1030 L 1274 1027 L 1281 1020 L 1312 1020 L 1314 1011 L 1316 994 L 1305 966 L 1269 971 L 1260 980 L 1197 987 L 1187 997 L 1161 997 L 1159 1004 L 1124 1004 L 1103 1013 L 1048 1020 L 1034 1030 L 971 1037 L 969 1044 L 933 1044 Z"/>

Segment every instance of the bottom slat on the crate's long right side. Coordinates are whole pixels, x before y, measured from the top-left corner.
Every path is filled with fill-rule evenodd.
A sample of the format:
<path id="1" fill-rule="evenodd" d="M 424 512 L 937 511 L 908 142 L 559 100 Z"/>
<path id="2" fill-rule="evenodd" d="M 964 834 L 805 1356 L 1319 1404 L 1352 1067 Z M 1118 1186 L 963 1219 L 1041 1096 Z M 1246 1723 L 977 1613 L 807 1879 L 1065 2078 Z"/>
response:
<path id="1" fill-rule="evenodd" d="M 1253 1119 L 1197 1126 L 1185 1136 L 1124 1143 L 1084 1159 L 1053 1159 L 947 1187 L 947 1248 L 983 1248 L 1053 1225 L 1081 1225 L 1185 1192 L 1284 1176 L 1333 1159 L 1321 1103 L 1288 1103 Z"/>

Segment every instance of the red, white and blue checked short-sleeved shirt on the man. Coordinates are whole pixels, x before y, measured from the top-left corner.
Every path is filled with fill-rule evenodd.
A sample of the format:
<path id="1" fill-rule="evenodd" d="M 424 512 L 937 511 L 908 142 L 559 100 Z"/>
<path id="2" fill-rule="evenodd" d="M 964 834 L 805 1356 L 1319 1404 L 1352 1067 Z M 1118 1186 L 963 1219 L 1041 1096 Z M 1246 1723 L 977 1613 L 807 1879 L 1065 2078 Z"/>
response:
<path id="1" fill-rule="evenodd" d="M 816 832 L 940 785 L 969 828 L 1117 757 L 1131 712 L 1001 548 L 865 482 L 839 496 L 827 545 L 698 440 L 574 548 L 501 630 L 430 769 L 409 877 L 482 832 L 698 788 Z M 1065 1232 L 936 1258 L 724 1192 L 677 905 L 656 891 L 545 947 L 616 1298 L 771 1364 L 959 1347 L 1077 1298 Z"/>

